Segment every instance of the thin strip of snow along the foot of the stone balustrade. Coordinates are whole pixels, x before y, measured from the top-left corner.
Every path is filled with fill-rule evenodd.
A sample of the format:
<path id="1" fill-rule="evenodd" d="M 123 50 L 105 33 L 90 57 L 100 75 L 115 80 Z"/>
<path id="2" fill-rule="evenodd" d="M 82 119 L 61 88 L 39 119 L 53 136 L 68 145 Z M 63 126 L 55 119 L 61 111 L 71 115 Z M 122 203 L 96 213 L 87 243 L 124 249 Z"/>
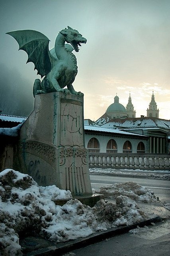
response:
<path id="1" fill-rule="evenodd" d="M 143 176 L 148 179 L 156 180 L 170 180 L 170 170 L 129 170 L 129 169 L 102 169 L 102 168 L 90 168 L 90 174 L 102 174 L 102 175 L 132 175 Z"/>

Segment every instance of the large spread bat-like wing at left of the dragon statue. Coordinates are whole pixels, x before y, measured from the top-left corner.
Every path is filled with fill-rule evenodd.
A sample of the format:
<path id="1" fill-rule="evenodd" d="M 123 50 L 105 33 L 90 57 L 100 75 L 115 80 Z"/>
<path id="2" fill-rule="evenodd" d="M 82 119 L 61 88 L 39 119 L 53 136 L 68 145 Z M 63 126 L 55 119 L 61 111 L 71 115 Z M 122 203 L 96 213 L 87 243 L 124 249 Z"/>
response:
<path id="1" fill-rule="evenodd" d="M 51 69 L 51 54 L 49 52 L 49 39 L 44 34 L 35 30 L 17 30 L 8 32 L 19 44 L 19 50 L 28 54 L 28 62 L 33 62 L 37 74 L 41 78 L 47 75 Z"/>

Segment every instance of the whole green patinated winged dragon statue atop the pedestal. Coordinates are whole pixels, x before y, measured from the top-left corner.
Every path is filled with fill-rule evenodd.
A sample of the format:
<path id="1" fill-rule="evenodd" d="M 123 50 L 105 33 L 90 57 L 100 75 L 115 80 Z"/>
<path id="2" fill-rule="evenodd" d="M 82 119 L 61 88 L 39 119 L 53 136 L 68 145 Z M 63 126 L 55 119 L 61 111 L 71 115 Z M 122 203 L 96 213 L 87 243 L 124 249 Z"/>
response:
<path id="1" fill-rule="evenodd" d="M 77 60 L 72 50 L 79 51 L 81 43 L 86 44 L 86 38 L 68 26 L 61 30 L 55 40 L 55 47 L 49 51 L 49 39 L 35 30 L 18 30 L 8 32 L 19 44 L 19 50 L 28 54 L 28 62 L 33 62 L 37 74 L 43 78 L 35 79 L 33 95 L 48 92 L 76 92 L 72 86 L 77 74 Z M 66 44 L 67 43 L 67 44 Z M 64 87 L 67 86 L 67 89 Z"/>

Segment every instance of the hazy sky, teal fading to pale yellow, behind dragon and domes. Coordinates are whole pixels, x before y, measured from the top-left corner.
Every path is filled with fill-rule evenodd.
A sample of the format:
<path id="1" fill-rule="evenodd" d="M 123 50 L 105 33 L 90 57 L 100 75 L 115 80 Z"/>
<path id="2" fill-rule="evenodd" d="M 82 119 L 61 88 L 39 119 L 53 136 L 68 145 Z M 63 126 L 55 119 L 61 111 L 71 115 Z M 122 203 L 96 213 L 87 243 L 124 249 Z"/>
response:
<path id="1" fill-rule="evenodd" d="M 129 92 L 136 117 L 147 116 L 153 91 L 159 118 L 170 119 L 170 0 L 1 0 L 0 88 L 22 87 L 18 100 L 25 97 L 31 105 L 33 83 L 40 78 L 6 32 L 37 30 L 51 40 L 51 49 L 67 26 L 87 39 L 73 52 L 73 86 L 84 93 L 84 118 L 100 118 L 116 93 L 126 107 Z"/>

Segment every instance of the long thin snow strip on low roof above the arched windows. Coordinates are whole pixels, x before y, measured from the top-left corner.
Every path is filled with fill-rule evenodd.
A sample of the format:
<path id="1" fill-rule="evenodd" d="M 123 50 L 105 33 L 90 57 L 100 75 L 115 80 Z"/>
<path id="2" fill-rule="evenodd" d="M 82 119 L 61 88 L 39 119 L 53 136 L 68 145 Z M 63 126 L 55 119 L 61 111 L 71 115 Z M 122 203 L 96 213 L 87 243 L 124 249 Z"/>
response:
<path id="1" fill-rule="evenodd" d="M 105 127 L 101 127 L 101 126 L 84 125 L 84 130 L 90 130 L 90 131 L 96 131 L 96 132 L 110 132 L 110 133 L 115 133 L 115 134 L 146 137 L 142 134 L 136 134 L 136 133 L 132 133 L 132 132 L 125 132 L 125 131 L 121 131 L 121 130 L 118 130 L 118 129 L 105 128 Z"/>

